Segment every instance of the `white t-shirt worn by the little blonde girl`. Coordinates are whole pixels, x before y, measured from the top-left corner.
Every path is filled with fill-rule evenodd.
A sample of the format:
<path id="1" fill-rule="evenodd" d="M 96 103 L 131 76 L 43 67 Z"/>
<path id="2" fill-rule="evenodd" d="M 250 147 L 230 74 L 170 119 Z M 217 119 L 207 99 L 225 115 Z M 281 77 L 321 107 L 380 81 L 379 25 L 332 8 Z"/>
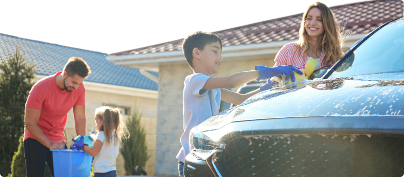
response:
<path id="1" fill-rule="evenodd" d="M 112 137 L 114 136 L 115 131 L 112 131 Z M 105 142 L 104 131 L 99 131 L 97 140 L 103 142 L 103 146 L 92 161 L 93 171 L 105 173 L 108 171 L 117 170 L 115 164 L 119 154 L 119 140 L 115 142 L 115 138 L 112 138 L 110 144 L 107 145 Z"/>

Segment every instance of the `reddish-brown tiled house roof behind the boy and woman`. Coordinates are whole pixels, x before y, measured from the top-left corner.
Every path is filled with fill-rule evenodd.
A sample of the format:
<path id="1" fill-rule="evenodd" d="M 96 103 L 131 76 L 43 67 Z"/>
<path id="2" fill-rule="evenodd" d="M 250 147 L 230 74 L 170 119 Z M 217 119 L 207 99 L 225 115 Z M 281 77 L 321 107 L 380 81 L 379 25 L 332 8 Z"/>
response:
<path id="1" fill-rule="evenodd" d="M 379 0 L 330 7 L 343 34 L 369 33 L 392 19 L 403 16 L 402 1 Z M 303 13 L 248 24 L 213 32 L 222 38 L 223 46 L 248 45 L 250 43 L 294 40 L 299 37 Z M 153 46 L 110 54 L 137 55 L 166 51 L 180 51 L 182 39 L 159 43 Z"/>

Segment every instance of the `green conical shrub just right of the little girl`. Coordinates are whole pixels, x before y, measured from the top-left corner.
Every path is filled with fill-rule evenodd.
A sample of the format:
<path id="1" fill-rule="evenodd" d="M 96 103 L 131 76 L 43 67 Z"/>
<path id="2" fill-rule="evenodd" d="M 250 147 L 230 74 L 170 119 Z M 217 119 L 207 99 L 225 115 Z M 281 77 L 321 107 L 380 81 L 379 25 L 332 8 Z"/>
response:
<path id="1" fill-rule="evenodd" d="M 136 170 L 142 170 L 150 157 L 147 153 L 146 134 L 144 128 L 140 125 L 142 114 L 135 109 L 131 118 L 128 118 L 126 126 L 128 128 L 129 137 L 122 140 L 122 148 L 120 150 L 125 161 L 125 172 L 127 175 L 133 174 Z"/>

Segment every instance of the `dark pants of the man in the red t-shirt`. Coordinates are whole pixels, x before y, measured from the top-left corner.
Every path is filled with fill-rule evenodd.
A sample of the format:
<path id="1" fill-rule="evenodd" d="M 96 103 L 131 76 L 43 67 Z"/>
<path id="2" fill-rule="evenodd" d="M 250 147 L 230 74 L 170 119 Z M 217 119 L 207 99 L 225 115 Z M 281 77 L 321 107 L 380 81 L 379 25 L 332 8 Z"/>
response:
<path id="1" fill-rule="evenodd" d="M 65 149 L 67 149 L 65 145 Z M 24 141 L 25 165 L 27 177 L 43 176 L 45 173 L 45 162 L 54 175 L 54 159 L 52 151 L 38 141 L 28 138 Z"/>

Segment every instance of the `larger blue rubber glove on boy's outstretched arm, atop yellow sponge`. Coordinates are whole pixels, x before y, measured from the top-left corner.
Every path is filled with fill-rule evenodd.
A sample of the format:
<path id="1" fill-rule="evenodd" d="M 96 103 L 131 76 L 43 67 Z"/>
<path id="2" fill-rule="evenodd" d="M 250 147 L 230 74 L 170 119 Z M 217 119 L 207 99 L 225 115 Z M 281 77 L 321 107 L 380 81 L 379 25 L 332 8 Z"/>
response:
<path id="1" fill-rule="evenodd" d="M 285 80 L 289 80 L 290 77 L 292 79 L 292 82 L 294 82 L 295 78 L 293 71 L 298 74 L 303 74 L 303 72 L 301 72 L 298 67 L 293 65 L 283 65 L 275 67 L 256 66 L 256 70 L 258 70 L 258 73 L 260 74 L 260 77 L 257 79 L 258 81 L 269 79 L 278 75 L 285 75 Z"/>

